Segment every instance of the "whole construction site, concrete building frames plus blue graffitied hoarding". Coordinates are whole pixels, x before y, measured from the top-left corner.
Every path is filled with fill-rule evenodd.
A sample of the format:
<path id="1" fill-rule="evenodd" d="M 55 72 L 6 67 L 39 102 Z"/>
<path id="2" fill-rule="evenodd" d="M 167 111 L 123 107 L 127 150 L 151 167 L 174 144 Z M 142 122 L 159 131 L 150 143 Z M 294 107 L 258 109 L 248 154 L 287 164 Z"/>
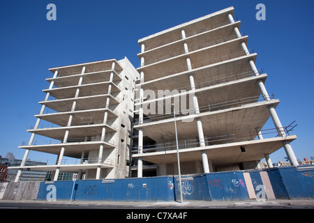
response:
<path id="1" fill-rule="evenodd" d="M 290 145 L 295 123 L 282 125 L 280 100 L 267 92 L 268 75 L 255 66 L 233 7 L 138 44 L 138 68 L 124 57 L 49 69 L 50 86 L 29 142 L 19 147 L 20 166 L 8 167 L 17 176 L 3 199 L 245 200 L 257 198 L 259 185 L 268 199 L 314 196 L 313 165 L 299 167 Z M 264 128 L 269 119 L 273 128 Z M 290 167 L 273 167 L 271 154 L 280 149 Z M 30 151 L 57 160 L 26 165 Z M 64 157 L 79 162 L 64 164 Z M 51 171 L 52 180 L 25 189 L 25 169 Z M 58 180 L 61 173 L 73 181 Z"/>

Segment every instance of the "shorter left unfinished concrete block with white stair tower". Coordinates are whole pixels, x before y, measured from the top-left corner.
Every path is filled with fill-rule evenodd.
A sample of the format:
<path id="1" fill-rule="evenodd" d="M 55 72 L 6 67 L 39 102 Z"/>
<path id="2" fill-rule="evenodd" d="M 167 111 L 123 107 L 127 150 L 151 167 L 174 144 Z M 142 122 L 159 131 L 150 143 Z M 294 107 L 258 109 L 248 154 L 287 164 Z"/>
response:
<path id="1" fill-rule="evenodd" d="M 138 72 L 127 58 L 51 68 L 54 73 L 36 124 L 27 130 L 31 139 L 15 181 L 22 169 L 76 173 L 78 179 L 124 178 L 130 163 L 133 91 Z M 34 140 L 36 135 L 43 141 Z M 45 137 L 45 138 L 43 138 Z M 25 166 L 29 151 L 57 155 L 46 166 Z M 80 159 L 64 164 L 63 157 Z"/>

